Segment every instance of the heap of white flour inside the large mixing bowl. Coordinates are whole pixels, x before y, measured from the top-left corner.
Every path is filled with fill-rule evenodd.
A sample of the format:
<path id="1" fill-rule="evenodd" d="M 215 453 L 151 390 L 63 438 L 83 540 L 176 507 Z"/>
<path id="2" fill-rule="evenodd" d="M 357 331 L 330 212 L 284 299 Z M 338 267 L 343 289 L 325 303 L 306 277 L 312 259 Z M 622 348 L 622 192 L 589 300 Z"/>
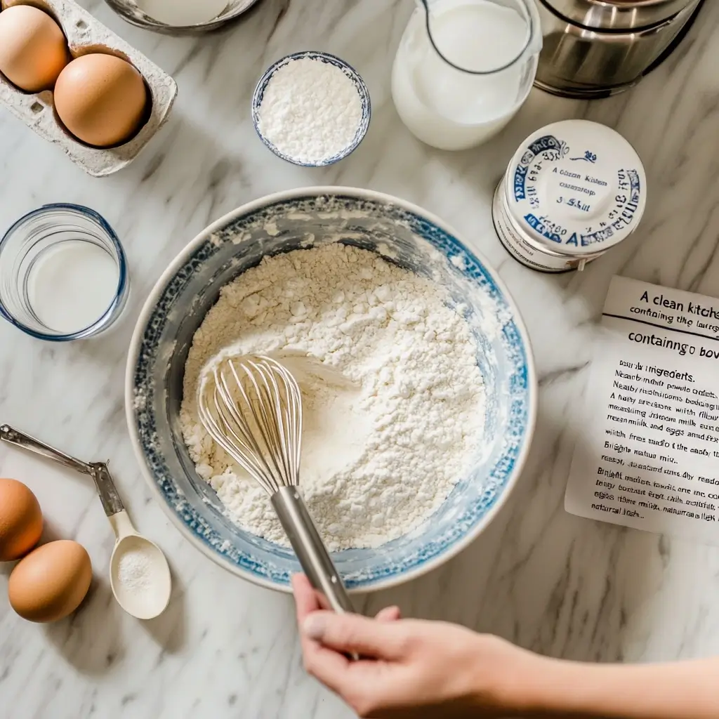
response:
<path id="1" fill-rule="evenodd" d="M 265 492 L 198 420 L 201 370 L 231 345 L 311 354 L 354 383 L 298 377 L 302 494 L 329 549 L 380 546 L 444 502 L 485 421 L 477 345 L 448 302 L 431 280 L 342 244 L 265 257 L 223 288 L 193 340 L 180 420 L 198 474 L 235 523 L 288 544 Z"/>

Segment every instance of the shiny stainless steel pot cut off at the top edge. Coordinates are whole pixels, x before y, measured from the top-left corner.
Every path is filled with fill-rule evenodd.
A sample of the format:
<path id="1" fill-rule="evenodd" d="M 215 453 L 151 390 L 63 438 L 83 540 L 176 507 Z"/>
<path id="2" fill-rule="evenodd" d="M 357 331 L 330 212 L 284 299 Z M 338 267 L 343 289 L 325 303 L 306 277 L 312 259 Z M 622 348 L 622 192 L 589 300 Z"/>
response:
<path id="1" fill-rule="evenodd" d="M 544 47 L 536 86 L 605 97 L 641 80 L 702 0 L 537 0 Z"/>

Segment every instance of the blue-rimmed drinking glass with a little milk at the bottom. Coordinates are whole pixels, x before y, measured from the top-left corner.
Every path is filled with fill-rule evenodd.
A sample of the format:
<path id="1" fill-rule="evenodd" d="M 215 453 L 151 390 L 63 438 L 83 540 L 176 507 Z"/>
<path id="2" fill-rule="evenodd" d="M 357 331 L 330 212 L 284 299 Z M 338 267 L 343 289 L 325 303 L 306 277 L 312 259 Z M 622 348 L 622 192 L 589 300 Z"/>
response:
<path id="1" fill-rule="evenodd" d="M 88 207 L 42 206 L 0 239 L 0 316 L 37 339 L 99 334 L 122 313 L 128 295 L 122 246 Z"/>

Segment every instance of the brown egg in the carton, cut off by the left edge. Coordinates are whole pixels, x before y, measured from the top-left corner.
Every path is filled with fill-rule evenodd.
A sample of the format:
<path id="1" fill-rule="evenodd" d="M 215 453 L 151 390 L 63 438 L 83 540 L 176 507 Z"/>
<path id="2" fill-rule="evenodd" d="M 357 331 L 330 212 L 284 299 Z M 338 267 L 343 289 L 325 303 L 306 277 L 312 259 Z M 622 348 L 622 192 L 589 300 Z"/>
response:
<path id="1" fill-rule="evenodd" d="M 49 90 L 69 61 L 65 35 L 46 12 L 30 5 L 0 12 L 0 72 L 21 90 Z"/>

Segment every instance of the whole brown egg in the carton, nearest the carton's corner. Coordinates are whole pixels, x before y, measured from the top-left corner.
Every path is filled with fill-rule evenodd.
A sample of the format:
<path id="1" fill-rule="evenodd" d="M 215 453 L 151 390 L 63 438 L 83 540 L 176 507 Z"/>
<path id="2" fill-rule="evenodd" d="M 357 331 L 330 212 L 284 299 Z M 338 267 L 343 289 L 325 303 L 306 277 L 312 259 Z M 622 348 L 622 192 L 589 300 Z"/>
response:
<path id="1" fill-rule="evenodd" d="M 145 118 L 142 75 L 114 55 L 83 55 L 60 73 L 55 109 L 75 137 L 95 147 L 129 139 Z"/>

